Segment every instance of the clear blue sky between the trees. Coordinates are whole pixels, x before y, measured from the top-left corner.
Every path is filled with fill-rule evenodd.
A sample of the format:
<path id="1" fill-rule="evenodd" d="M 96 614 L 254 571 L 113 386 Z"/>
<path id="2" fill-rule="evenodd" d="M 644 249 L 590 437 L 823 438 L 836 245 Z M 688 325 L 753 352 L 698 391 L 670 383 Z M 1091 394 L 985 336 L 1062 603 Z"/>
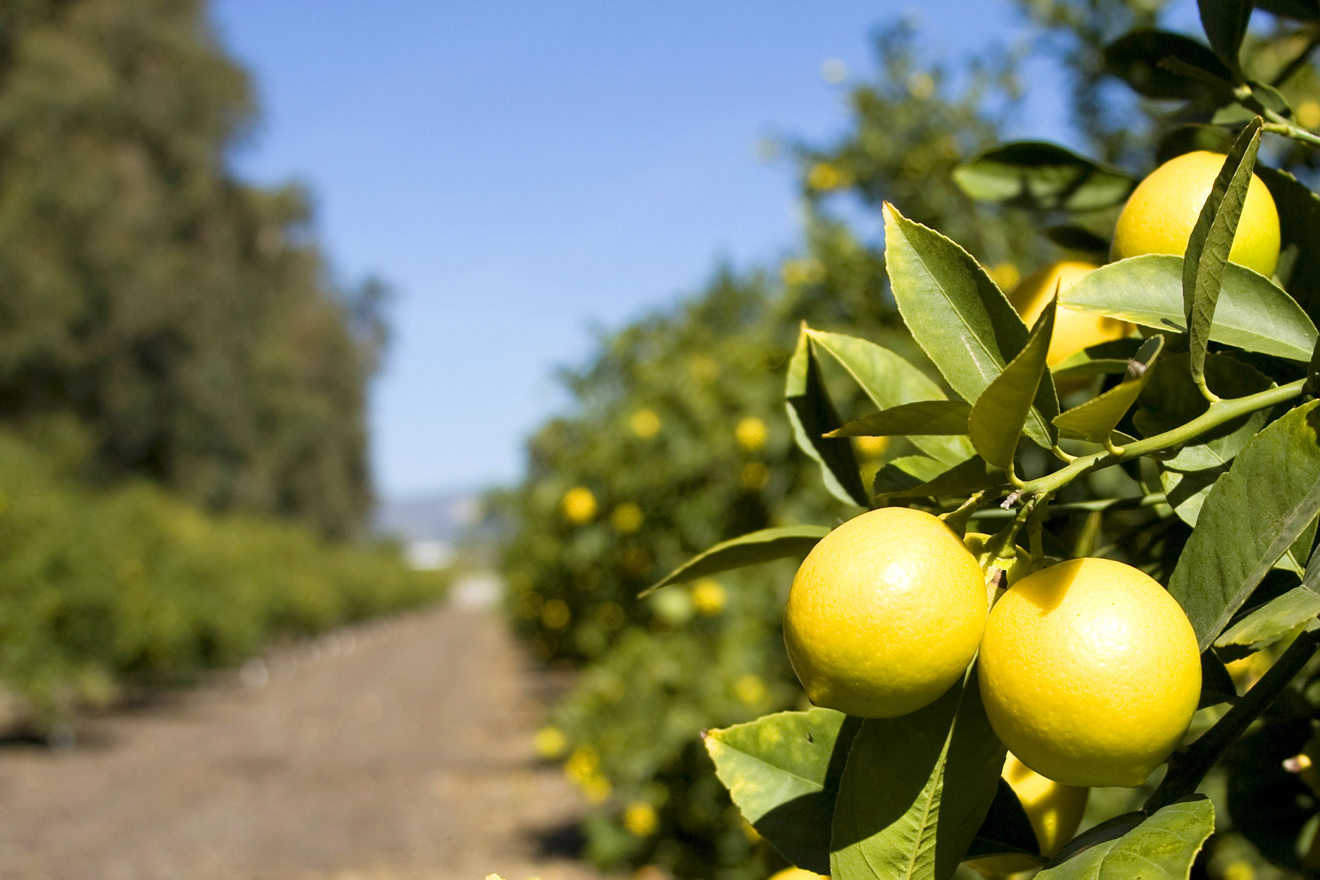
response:
<path id="1" fill-rule="evenodd" d="M 380 492 L 510 482 L 594 329 L 751 265 L 797 235 L 763 139 L 828 139 L 841 59 L 908 8 L 853 0 L 216 0 L 255 78 L 244 177 L 298 179 L 338 276 L 397 298 L 371 402 Z M 1005 0 L 927 0 L 932 57 L 1023 36 Z M 1053 100 L 1053 103 L 1052 103 Z M 1032 124 L 1061 103 L 1038 96 Z"/>

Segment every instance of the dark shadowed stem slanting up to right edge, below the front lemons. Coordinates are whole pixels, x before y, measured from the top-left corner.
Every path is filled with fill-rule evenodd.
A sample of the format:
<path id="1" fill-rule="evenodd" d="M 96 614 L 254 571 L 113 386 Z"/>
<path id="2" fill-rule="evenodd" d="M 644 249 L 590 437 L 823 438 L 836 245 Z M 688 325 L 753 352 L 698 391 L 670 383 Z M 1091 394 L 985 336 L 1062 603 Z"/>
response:
<path id="1" fill-rule="evenodd" d="M 1294 676 L 1302 672 L 1302 668 L 1315 654 L 1316 648 L 1320 648 L 1320 637 L 1315 633 L 1303 632 L 1298 636 L 1261 681 L 1246 691 L 1233 708 L 1214 723 L 1214 727 L 1205 731 L 1185 752 L 1170 757 L 1168 774 L 1164 776 L 1164 781 L 1147 798 L 1146 806 L 1142 809 L 1146 813 L 1154 813 L 1162 806 L 1168 806 L 1173 801 L 1192 794 L 1209 769 L 1214 767 L 1214 763 L 1224 756 L 1224 752 L 1283 693 Z"/>

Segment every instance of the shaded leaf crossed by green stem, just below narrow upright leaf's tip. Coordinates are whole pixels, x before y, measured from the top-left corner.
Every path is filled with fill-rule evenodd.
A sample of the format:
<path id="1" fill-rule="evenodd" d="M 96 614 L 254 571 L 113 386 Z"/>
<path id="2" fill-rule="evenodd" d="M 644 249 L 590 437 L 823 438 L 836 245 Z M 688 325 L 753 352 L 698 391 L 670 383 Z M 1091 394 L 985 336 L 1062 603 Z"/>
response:
<path id="1" fill-rule="evenodd" d="M 1226 355 L 1209 355 L 1205 371 L 1210 383 L 1225 397 L 1246 397 L 1274 385 L 1269 376 Z M 1192 384 L 1187 367 L 1187 352 L 1170 355 L 1150 371 L 1146 388 L 1137 398 L 1138 410 L 1133 424 L 1143 437 L 1163 434 L 1201 416 L 1209 404 Z M 1200 471 L 1221 467 L 1242 451 L 1247 441 L 1269 420 L 1269 410 L 1257 410 L 1234 418 L 1187 443 L 1162 466 L 1173 471 Z"/>

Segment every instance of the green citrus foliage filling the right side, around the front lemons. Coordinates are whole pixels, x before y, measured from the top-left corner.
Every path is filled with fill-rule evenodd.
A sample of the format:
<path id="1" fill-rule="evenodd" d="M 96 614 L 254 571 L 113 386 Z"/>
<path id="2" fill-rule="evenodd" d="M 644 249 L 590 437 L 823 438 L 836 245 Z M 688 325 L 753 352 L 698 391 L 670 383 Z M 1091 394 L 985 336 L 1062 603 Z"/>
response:
<path id="1" fill-rule="evenodd" d="M 880 40 L 883 82 L 854 96 L 855 137 L 803 150 L 812 199 L 847 189 L 876 208 L 892 203 L 883 210 L 884 269 L 876 253 L 825 247 L 849 239 L 814 215 L 810 256 L 785 267 L 781 293 L 725 278 L 685 313 L 623 331 L 577 379 L 577 417 L 543 431 L 529 480 L 508 501 L 517 530 L 506 566 L 513 611 L 533 644 L 546 657 L 587 662 L 553 720 L 565 734 L 566 769 L 601 803 L 587 826 L 589 852 L 601 862 L 737 877 L 787 859 L 849 879 L 949 877 L 965 859 L 1007 854 L 1045 862 L 1022 805 L 999 781 L 1005 749 L 975 676 L 909 714 L 865 720 L 808 708 L 787 676 L 777 644 L 788 579 L 781 559 L 805 553 L 816 532 L 801 526 L 903 505 L 990 533 L 977 544 L 991 575 L 1043 567 L 1047 557 L 1135 566 L 1170 587 L 1206 652 L 1204 708 L 1189 739 L 1204 736 L 1175 753 L 1163 781 L 1098 792 L 1086 825 L 1101 825 L 1041 876 L 1146 876 L 1134 873 L 1142 865 L 1150 876 L 1185 877 L 1208 838 L 1204 858 L 1217 876 L 1242 859 L 1303 867 L 1316 801 L 1280 761 L 1302 753 L 1295 765 L 1309 767 L 1303 734 L 1316 715 L 1308 679 L 1294 678 L 1316 644 L 1303 631 L 1317 607 L 1308 599 L 1317 575 L 1303 575 L 1320 511 L 1311 472 L 1320 446 L 1304 396 L 1320 288 L 1307 244 L 1317 235 L 1316 197 L 1288 172 L 1309 174 L 1305 160 L 1320 139 L 1292 120 L 1313 104 L 1311 124 L 1320 124 L 1320 104 L 1303 57 L 1312 25 L 1283 20 L 1238 53 L 1242 36 L 1220 5 L 1232 4 L 1203 4 L 1213 49 L 1148 29 L 1125 36 L 1154 24 L 1148 9 L 1031 5 L 1045 26 L 1077 38 L 1069 63 L 1094 158 L 1052 144 L 987 144 L 994 125 L 979 98 L 949 102 L 941 78 L 915 67 L 890 32 Z M 1320 18 L 1300 8 L 1288 15 Z M 1229 44 L 1232 63 L 1222 57 Z M 1200 71 L 1162 66 L 1166 58 Z M 1123 104 L 1104 98 L 1114 78 L 1139 95 L 1181 102 L 1177 113 L 1164 115 L 1167 104 L 1134 112 L 1127 103 L 1115 123 Z M 1041 310 L 1031 326 L 1015 314 L 1005 292 L 1018 265 L 1031 268 L 1047 253 L 1105 263 L 1139 177 L 1114 162 L 1148 172 L 1206 146 L 1228 150 L 1228 160 L 1193 218 L 1187 259 L 1110 263 L 1057 299 L 1126 322 L 1137 335 L 1047 368 L 1055 313 Z M 1228 261 L 1253 172 L 1279 206 L 1276 280 Z M 1024 235 L 1027 223 L 1045 235 Z M 858 252 L 865 259 L 847 259 Z M 858 276 L 838 265 L 863 268 L 862 286 L 840 284 Z M 760 321 L 709 319 L 702 310 L 730 288 L 752 292 Z M 911 335 L 895 329 L 895 311 Z M 793 332 L 801 318 L 808 326 Z M 622 347 L 630 358 L 618 356 Z M 738 364 L 756 347 L 775 356 L 747 361 L 772 369 L 730 371 L 722 405 L 702 402 L 710 397 L 680 369 L 701 355 Z M 645 405 L 661 388 L 673 412 Z M 780 389 L 787 408 L 776 420 Z M 744 413 L 766 426 L 768 482 L 752 499 L 763 513 L 742 521 L 754 534 L 739 542 L 746 450 L 737 443 L 754 435 L 737 427 Z M 660 437 L 656 424 L 677 424 L 689 445 L 639 446 L 645 431 Z M 638 425 L 645 430 L 630 437 Z M 878 459 L 855 439 L 867 437 L 869 449 L 883 449 Z M 675 454 L 684 449 L 708 455 L 709 478 L 684 479 L 693 460 Z M 813 472 L 822 478 L 814 487 Z M 591 517 L 576 520 L 561 507 L 573 487 L 591 492 Z M 610 530 L 605 512 L 628 501 L 656 522 L 655 533 Z M 668 519 L 702 507 L 704 519 L 677 528 Z M 799 528 L 766 532 L 789 525 Z M 696 540 L 702 529 L 704 544 Z M 1019 537 L 1028 545 L 1022 551 Z M 632 558 L 649 567 L 630 570 L 630 541 L 643 540 L 647 555 Z M 680 550 L 708 548 L 682 567 Z M 758 558 L 780 562 L 719 571 Z M 634 594 L 657 582 L 669 586 L 636 604 Z M 711 595 L 723 611 L 697 615 L 713 607 L 698 596 Z M 598 610 L 609 603 L 622 613 Z M 606 617 L 612 628 L 579 635 L 577 627 Z M 1257 666 L 1238 669 L 1242 681 L 1269 673 L 1239 697 L 1225 662 L 1243 657 Z M 785 708 L 805 711 L 746 720 Z M 1241 736 L 1258 718 L 1262 726 Z M 756 834 L 733 821 L 690 739 L 737 723 L 708 732 L 705 744 Z M 1213 809 L 1188 797 L 1203 782 Z M 636 805 L 651 806 L 653 826 L 626 821 L 630 810 L 640 814 Z M 758 835 L 764 840 L 751 844 Z"/>

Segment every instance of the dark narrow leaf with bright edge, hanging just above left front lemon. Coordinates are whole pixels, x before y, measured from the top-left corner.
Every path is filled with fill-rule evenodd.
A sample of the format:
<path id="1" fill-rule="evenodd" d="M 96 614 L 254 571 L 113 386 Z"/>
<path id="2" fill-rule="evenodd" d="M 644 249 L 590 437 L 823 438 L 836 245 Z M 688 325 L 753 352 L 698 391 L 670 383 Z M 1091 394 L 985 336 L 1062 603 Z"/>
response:
<path id="1" fill-rule="evenodd" d="M 857 454 L 846 438 L 826 438 L 825 434 L 842 426 L 834 402 L 825 391 L 820 364 L 807 336 L 807 327 L 797 338 L 797 348 L 788 361 L 788 383 L 784 388 L 788 422 L 799 449 L 821 466 L 821 478 L 830 495 L 846 504 L 870 507 L 862 484 Z"/>

